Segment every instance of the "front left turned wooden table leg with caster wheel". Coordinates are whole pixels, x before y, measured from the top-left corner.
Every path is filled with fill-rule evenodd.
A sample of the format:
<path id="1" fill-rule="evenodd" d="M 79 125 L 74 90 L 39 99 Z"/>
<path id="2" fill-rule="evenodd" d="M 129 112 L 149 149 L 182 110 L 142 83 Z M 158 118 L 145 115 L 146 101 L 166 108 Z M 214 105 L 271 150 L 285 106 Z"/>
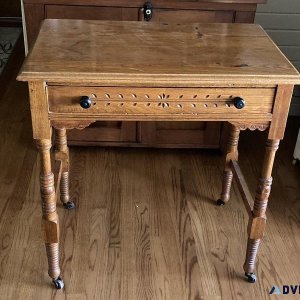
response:
<path id="1" fill-rule="evenodd" d="M 52 278 L 56 288 L 61 289 L 64 283 L 59 277 L 59 223 L 56 213 L 54 175 L 51 170 L 51 140 L 37 140 L 37 148 L 41 157 L 42 226 L 48 258 L 48 274 Z"/>

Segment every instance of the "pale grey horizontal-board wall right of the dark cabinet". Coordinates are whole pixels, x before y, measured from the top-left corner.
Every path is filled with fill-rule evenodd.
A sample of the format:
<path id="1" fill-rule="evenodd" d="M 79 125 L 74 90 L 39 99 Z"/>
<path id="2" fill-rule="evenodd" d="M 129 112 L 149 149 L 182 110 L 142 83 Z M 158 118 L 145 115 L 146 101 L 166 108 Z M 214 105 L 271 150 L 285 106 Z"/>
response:
<path id="1" fill-rule="evenodd" d="M 258 5 L 255 22 L 300 71 L 300 0 L 268 0 Z M 295 89 L 290 115 L 300 116 L 300 86 Z"/>

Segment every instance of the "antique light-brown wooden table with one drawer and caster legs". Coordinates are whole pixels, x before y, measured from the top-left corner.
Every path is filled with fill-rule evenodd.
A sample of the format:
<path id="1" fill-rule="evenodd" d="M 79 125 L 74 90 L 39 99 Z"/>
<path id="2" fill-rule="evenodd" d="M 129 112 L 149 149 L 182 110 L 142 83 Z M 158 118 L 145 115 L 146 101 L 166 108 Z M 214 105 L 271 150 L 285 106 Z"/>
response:
<path id="1" fill-rule="evenodd" d="M 41 156 L 43 229 L 48 273 L 63 287 L 56 195 L 68 209 L 66 130 L 96 120 L 227 121 L 230 134 L 221 198 L 237 181 L 249 213 L 246 277 L 266 224 L 272 166 L 283 138 L 295 68 L 258 25 L 46 20 L 19 80 L 29 82 L 33 137 Z M 50 160 L 55 131 L 54 177 Z M 269 130 L 255 199 L 238 160 L 240 130 Z M 56 188 L 55 188 L 56 178 Z M 201 187 L 199 187 L 201 188 Z"/>

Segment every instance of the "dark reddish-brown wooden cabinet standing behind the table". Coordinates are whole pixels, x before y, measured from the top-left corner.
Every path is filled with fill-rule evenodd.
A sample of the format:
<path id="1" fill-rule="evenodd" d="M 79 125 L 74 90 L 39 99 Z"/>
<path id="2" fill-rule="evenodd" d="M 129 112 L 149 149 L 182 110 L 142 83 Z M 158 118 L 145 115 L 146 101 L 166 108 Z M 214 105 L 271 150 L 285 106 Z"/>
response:
<path id="1" fill-rule="evenodd" d="M 176 23 L 252 23 L 265 0 L 23 0 L 30 48 L 40 23 L 51 19 L 95 19 Z M 146 11 L 149 9 L 149 11 Z M 147 13 L 148 14 L 147 14 Z M 159 61 L 159 57 L 158 57 Z M 218 148 L 220 123 L 97 122 L 71 130 L 71 145 Z"/>

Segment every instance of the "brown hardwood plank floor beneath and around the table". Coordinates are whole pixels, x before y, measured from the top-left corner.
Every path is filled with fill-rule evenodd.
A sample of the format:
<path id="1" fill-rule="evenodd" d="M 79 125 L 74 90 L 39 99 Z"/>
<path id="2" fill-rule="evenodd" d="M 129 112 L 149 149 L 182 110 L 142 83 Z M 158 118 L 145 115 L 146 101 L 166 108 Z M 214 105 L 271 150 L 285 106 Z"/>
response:
<path id="1" fill-rule="evenodd" d="M 277 155 L 256 284 L 243 276 L 247 215 L 237 187 L 228 205 L 214 203 L 218 152 L 71 148 L 77 208 L 58 208 L 63 291 L 47 275 L 26 85 L 10 83 L 0 125 L 1 299 L 268 299 L 274 284 L 299 284 L 300 166 L 292 165 L 299 120 Z M 264 137 L 241 137 L 253 192 Z"/>

